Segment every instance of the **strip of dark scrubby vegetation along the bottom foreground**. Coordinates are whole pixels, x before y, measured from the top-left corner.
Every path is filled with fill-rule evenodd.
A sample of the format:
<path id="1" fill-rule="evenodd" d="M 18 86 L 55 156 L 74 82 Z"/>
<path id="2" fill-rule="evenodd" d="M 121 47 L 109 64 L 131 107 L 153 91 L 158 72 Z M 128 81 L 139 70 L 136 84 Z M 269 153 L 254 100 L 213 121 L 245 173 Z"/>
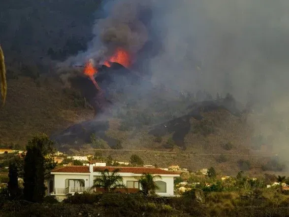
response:
<path id="1" fill-rule="evenodd" d="M 75 194 L 59 203 L 52 197 L 42 204 L 2 202 L 1 217 L 286 217 L 289 197 L 271 190 L 258 194 L 244 191 L 207 192 L 192 190 L 181 197 L 161 198 L 142 194 Z M 257 196 L 259 195 L 259 196 Z"/>

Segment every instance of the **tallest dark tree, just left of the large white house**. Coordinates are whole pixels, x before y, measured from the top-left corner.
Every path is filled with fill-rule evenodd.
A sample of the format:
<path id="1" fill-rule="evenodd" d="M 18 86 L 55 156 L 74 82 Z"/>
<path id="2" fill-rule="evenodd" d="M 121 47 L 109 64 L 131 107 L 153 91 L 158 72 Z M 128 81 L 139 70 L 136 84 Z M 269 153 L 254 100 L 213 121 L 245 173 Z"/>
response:
<path id="1" fill-rule="evenodd" d="M 24 159 L 24 199 L 40 202 L 45 195 L 44 177 L 48 169 L 53 168 L 50 154 L 53 142 L 45 134 L 37 135 L 26 146 Z M 46 159 L 45 159 L 46 158 Z"/>

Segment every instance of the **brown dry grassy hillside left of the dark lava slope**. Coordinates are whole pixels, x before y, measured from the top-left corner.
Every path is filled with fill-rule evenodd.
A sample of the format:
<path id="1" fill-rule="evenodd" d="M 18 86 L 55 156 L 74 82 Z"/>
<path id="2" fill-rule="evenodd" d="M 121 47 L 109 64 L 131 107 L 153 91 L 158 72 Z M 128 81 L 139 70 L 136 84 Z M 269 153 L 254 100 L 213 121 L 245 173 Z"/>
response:
<path id="1" fill-rule="evenodd" d="M 57 80 L 37 84 L 31 78 L 8 80 L 7 100 L 0 109 L 0 143 L 25 145 L 36 133 L 50 135 L 93 117 L 90 108 L 76 108 Z"/>

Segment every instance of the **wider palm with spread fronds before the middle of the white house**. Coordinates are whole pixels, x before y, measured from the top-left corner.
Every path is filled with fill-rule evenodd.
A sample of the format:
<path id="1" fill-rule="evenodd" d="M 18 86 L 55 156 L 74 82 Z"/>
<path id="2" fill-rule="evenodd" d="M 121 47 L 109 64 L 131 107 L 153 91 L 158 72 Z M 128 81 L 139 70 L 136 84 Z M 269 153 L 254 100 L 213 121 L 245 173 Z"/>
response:
<path id="1" fill-rule="evenodd" d="M 94 185 L 91 187 L 102 187 L 105 192 L 112 192 L 115 188 L 126 188 L 123 184 L 123 178 L 118 175 L 119 169 L 115 169 L 112 173 L 109 173 L 108 169 L 101 171 L 101 177 L 94 180 Z"/>

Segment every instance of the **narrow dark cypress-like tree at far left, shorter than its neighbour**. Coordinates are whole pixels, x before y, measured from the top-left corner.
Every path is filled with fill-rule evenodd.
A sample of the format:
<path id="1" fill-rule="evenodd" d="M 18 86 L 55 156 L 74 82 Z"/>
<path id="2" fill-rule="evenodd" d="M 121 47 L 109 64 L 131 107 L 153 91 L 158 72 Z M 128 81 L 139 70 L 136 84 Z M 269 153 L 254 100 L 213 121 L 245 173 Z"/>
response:
<path id="1" fill-rule="evenodd" d="M 15 162 L 10 162 L 9 165 L 9 181 L 8 181 L 8 190 L 10 199 L 15 199 L 19 194 L 19 187 L 18 187 L 18 169 Z"/>

